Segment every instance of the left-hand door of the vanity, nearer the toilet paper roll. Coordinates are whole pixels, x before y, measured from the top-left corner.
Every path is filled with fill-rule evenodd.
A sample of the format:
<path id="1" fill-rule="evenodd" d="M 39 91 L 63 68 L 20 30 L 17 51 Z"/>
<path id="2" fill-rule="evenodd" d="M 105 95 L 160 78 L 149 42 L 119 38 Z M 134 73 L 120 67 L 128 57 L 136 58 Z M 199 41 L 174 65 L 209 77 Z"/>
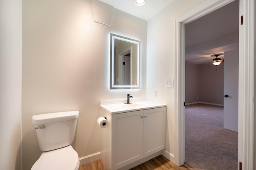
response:
<path id="1" fill-rule="evenodd" d="M 112 169 L 143 158 L 143 111 L 112 115 Z"/>

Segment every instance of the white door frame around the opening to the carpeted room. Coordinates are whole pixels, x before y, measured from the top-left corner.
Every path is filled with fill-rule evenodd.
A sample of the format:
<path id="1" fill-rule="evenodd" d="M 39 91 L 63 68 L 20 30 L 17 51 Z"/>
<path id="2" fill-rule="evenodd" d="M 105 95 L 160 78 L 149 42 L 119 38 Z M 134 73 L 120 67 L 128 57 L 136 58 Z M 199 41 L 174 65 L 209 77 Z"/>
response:
<path id="1" fill-rule="evenodd" d="M 185 25 L 234 0 L 211 0 L 175 20 L 174 163 L 185 162 Z M 240 0 L 238 168 L 253 169 L 254 152 L 254 0 Z M 240 20 L 241 21 L 241 20 Z M 240 23 L 239 23 L 240 24 Z"/>

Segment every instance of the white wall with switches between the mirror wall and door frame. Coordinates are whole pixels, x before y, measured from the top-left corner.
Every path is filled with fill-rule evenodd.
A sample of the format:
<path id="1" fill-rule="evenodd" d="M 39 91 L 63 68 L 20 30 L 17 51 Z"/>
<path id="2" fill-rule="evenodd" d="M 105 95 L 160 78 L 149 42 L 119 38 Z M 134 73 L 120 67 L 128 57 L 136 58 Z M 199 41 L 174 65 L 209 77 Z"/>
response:
<path id="1" fill-rule="evenodd" d="M 166 88 L 166 79 L 175 78 L 175 19 L 206 0 L 174 0 L 148 21 L 147 38 L 147 98 L 166 103 L 166 152 L 174 157 L 174 88 Z M 154 98 L 154 91 L 158 97 Z"/>

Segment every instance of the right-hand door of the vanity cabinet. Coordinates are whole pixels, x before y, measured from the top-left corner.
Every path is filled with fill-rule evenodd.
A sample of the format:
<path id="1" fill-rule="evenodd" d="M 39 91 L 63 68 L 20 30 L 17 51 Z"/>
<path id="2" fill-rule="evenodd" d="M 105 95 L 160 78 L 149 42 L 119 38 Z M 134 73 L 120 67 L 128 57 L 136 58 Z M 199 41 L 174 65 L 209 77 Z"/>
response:
<path id="1" fill-rule="evenodd" d="M 166 147 L 166 107 L 143 112 L 143 156 L 149 156 Z"/>

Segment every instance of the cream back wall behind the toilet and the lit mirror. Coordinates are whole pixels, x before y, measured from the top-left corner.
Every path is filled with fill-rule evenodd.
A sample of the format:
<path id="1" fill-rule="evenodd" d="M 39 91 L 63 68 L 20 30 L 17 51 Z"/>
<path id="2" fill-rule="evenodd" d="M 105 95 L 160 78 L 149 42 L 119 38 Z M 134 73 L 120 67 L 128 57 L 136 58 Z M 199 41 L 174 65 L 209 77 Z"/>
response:
<path id="1" fill-rule="evenodd" d="M 147 22 L 115 9 L 111 27 L 96 23 L 91 0 L 23 0 L 22 19 L 22 169 L 42 153 L 36 114 L 79 110 L 72 146 L 80 158 L 99 152 L 100 100 L 146 97 Z M 140 90 L 109 90 L 110 33 L 141 41 Z"/>

